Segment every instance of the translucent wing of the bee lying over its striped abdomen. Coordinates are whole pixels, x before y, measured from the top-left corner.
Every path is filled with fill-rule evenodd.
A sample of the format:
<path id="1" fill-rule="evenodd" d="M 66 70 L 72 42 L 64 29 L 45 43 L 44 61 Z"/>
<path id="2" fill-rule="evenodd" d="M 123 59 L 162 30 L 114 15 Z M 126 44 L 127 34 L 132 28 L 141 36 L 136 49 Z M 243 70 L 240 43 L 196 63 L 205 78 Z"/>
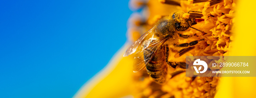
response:
<path id="1" fill-rule="evenodd" d="M 146 65 L 154 57 L 155 53 L 158 51 L 161 45 L 165 43 L 166 40 L 167 40 L 166 38 L 161 38 L 156 40 L 148 39 L 147 41 L 150 41 L 150 42 L 144 42 L 144 44 L 139 47 L 142 49 L 139 49 L 136 51 L 134 61 L 133 61 L 133 72 L 138 72 L 138 71 L 141 71 L 143 68 L 145 68 Z"/>

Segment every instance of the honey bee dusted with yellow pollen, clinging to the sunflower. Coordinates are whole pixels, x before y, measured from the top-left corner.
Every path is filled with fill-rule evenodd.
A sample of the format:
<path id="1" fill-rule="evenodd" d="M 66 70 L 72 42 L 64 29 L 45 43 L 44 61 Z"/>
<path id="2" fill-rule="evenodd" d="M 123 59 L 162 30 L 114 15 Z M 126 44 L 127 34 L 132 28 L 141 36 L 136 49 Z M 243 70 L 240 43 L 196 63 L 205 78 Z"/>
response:
<path id="1" fill-rule="evenodd" d="M 169 45 L 184 48 L 180 51 L 180 54 L 184 54 L 200 41 L 196 40 L 190 43 L 173 44 L 174 42 L 178 42 L 179 38 L 191 37 L 192 35 L 182 35 L 181 33 L 189 28 L 193 28 L 191 26 L 197 24 L 200 20 L 196 20 L 195 18 L 201 18 L 203 16 L 196 11 L 190 12 L 194 13 L 189 14 L 189 18 L 184 18 L 183 15 L 185 12 L 183 11 L 176 11 L 172 15 L 163 17 L 158 20 L 153 28 L 144 33 L 127 49 L 124 57 L 135 53 L 133 72 L 141 71 L 146 67 L 148 74 L 155 82 L 158 84 L 166 82 L 167 65 L 171 65 L 173 68 L 176 67 L 176 65 L 172 65 L 168 61 Z"/>

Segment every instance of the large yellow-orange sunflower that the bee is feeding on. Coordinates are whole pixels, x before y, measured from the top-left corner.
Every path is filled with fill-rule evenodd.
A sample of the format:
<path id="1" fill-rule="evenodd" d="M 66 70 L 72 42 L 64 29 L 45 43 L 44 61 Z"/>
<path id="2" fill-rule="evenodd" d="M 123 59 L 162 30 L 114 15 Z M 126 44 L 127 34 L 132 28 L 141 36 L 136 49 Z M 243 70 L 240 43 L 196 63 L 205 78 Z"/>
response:
<path id="1" fill-rule="evenodd" d="M 173 75 L 167 83 L 160 85 L 149 77 L 147 71 L 143 69 L 140 72 L 132 72 L 133 55 L 122 57 L 125 50 L 154 26 L 157 20 L 163 16 L 169 15 L 173 11 L 200 11 L 204 22 L 199 22 L 194 28 L 204 33 L 190 29 L 186 34 L 195 34 L 193 40 L 204 39 L 200 41 L 196 48 L 181 57 L 174 57 L 175 60 L 184 61 L 185 56 L 235 56 L 240 52 L 244 44 L 243 40 L 237 39 L 235 27 L 236 0 L 131 0 L 132 10 L 142 9 L 140 12 L 134 12 L 129 18 L 129 28 L 127 31 L 127 43 L 115 54 L 108 67 L 103 69 L 95 78 L 91 79 L 77 94 L 78 98 L 213 98 L 213 97 L 236 97 L 233 94 L 241 94 L 236 90 L 238 78 L 220 78 L 220 77 L 186 77 L 185 73 Z M 242 12 L 242 11 L 240 11 Z M 246 11 L 248 12 L 248 11 Z M 245 13 L 245 12 L 244 12 Z M 246 14 L 247 15 L 247 14 Z M 253 16 L 253 15 L 251 15 Z M 250 17 L 251 17 L 250 16 Z M 184 15 L 186 17 L 186 15 Z M 240 17 L 241 18 L 241 17 Z M 253 18 L 251 18 L 253 19 Z M 240 22 L 242 23 L 242 22 Z M 250 28 L 249 28 L 250 29 Z M 249 30 L 246 29 L 246 30 Z M 242 29 L 238 29 L 238 31 Z M 236 33 L 236 34 L 233 34 Z M 252 34 L 252 33 L 249 33 Z M 236 35 L 236 37 L 234 37 Z M 241 35 L 241 34 L 240 34 Z M 254 34 L 255 35 L 255 34 Z M 242 36 L 246 38 L 248 36 Z M 251 37 L 250 37 L 251 38 Z M 236 41 L 236 39 L 238 41 Z M 253 39 L 253 38 L 252 38 Z M 254 38 L 255 40 L 255 38 Z M 187 42 L 189 40 L 180 41 Z M 233 42 L 234 41 L 234 42 Z M 243 41 L 243 42 L 241 42 Z M 237 44 L 234 44 L 234 43 Z M 239 44 L 238 44 L 239 43 Z M 248 44 L 246 44 L 248 45 Z M 233 48 L 237 48 L 234 49 Z M 245 47 L 244 47 L 245 48 Z M 240 50 L 238 50 L 240 49 Z M 256 49 L 255 46 L 249 50 Z M 233 51 L 232 51 L 233 50 Z M 255 55 L 255 52 L 253 52 Z M 173 53 L 175 54 L 175 53 Z M 245 52 L 246 54 L 246 52 Z M 250 55 L 249 53 L 247 53 Z M 242 55 L 242 54 L 240 54 Z M 216 60 L 218 61 L 218 60 Z M 178 69 L 168 70 L 178 72 Z M 168 73 L 172 73 L 168 72 Z M 244 78 L 245 80 L 255 80 Z M 220 83 L 221 82 L 221 83 Z M 233 84 L 232 84 L 233 83 Z M 241 81 L 240 81 L 241 83 Z M 247 84 L 248 85 L 248 84 Z M 245 86 L 247 86 L 245 85 Z M 254 84 L 255 85 L 255 84 Z M 234 88 L 234 89 L 232 89 Z M 239 86 L 238 86 L 239 88 Z M 244 89 L 243 87 L 240 87 Z M 249 86 L 247 87 L 251 89 Z M 225 92 L 226 93 L 223 93 Z M 252 91 L 246 94 L 253 94 Z M 242 94 L 241 94 L 242 95 Z M 250 96 L 249 96 L 250 97 Z"/>

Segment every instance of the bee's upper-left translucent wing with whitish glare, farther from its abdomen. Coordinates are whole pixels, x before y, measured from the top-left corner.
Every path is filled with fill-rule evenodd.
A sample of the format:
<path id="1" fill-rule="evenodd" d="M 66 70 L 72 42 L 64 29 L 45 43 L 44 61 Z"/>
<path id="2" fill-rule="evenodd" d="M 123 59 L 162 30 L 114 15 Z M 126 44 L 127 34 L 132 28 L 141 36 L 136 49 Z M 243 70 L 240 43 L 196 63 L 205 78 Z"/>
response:
<path id="1" fill-rule="evenodd" d="M 150 36 L 151 32 L 154 30 L 155 30 L 155 27 L 151 28 L 146 33 L 144 33 L 139 39 L 137 39 L 131 46 L 129 46 L 129 48 L 124 53 L 124 57 L 129 56 L 132 53 L 135 53 L 139 46 L 143 46 L 142 43 L 143 43 L 144 39 L 151 38 L 152 37 L 152 36 Z"/>

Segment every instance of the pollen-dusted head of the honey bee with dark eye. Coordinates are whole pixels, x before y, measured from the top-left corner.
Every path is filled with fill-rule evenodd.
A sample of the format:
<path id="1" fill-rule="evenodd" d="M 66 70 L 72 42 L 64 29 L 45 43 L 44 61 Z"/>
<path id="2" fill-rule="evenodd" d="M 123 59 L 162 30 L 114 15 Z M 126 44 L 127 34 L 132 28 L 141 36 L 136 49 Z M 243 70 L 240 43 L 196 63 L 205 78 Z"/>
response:
<path id="1" fill-rule="evenodd" d="M 185 31 L 190 26 L 196 24 L 195 19 L 189 19 L 186 15 L 187 15 L 187 13 L 185 13 L 183 11 L 174 12 L 174 14 L 172 15 L 172 18 L 175 22 L 175 29 L 176 30 Z"/>

